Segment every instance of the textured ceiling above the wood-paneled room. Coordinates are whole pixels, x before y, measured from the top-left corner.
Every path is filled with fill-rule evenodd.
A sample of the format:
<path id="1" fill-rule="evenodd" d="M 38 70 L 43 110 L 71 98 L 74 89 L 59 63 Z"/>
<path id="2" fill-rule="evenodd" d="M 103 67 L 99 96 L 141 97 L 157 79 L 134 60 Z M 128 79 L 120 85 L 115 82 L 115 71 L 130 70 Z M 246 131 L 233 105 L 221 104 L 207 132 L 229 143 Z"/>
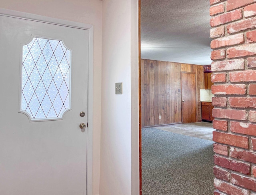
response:
<path id="1" fill-rule="evenodd" d="M 141 0 L 141 58 L 211 64 L 209 0 Z"/>

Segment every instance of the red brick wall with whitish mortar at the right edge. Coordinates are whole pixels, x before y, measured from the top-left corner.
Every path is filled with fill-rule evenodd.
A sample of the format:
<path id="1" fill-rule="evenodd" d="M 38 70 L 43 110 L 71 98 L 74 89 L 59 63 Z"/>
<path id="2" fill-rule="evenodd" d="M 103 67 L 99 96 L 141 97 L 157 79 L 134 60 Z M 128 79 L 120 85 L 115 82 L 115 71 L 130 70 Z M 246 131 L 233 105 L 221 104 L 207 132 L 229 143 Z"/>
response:
<path id="1" fill-rule="evenodd" d="M 256 0 L 210 0 L 214 195 L 256 195 Z"/>

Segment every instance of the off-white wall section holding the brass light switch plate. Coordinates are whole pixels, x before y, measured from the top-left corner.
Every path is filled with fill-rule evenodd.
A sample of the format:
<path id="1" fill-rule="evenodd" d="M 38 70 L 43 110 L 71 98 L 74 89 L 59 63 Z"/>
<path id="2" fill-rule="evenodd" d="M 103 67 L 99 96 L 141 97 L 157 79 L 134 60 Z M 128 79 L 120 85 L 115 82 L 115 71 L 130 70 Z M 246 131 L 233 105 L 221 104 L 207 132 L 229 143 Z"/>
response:
<path id="1" fill-rule="evenodd" d="M 139 194 L 137 4 L 102 2 L 101 195 Z"/>

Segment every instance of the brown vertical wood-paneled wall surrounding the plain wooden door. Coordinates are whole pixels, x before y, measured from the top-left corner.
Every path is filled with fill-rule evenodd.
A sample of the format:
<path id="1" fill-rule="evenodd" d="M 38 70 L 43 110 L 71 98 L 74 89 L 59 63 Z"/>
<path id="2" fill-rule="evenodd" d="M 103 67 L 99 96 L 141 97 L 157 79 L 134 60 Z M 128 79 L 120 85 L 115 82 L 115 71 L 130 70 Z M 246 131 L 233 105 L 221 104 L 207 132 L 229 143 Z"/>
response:
<path id="1" fill-rule="evenodd" d="M 197 121 L 201 121 L 200 89 L 204 89 L 203 66 L 142 59 L 142 127 L 182 122 L 181 72 L 196 73 Z"/>

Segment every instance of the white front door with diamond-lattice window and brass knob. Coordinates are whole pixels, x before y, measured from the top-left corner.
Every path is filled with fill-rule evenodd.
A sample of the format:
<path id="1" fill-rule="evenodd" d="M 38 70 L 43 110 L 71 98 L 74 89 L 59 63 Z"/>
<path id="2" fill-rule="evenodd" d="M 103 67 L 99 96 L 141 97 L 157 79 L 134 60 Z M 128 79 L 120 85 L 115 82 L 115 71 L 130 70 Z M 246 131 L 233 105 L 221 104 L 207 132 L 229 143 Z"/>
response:
<path id="1" fill-rule="evenodd" d="M 88 36 L 0 16 L 1 195 L 86 194 Z"/>

